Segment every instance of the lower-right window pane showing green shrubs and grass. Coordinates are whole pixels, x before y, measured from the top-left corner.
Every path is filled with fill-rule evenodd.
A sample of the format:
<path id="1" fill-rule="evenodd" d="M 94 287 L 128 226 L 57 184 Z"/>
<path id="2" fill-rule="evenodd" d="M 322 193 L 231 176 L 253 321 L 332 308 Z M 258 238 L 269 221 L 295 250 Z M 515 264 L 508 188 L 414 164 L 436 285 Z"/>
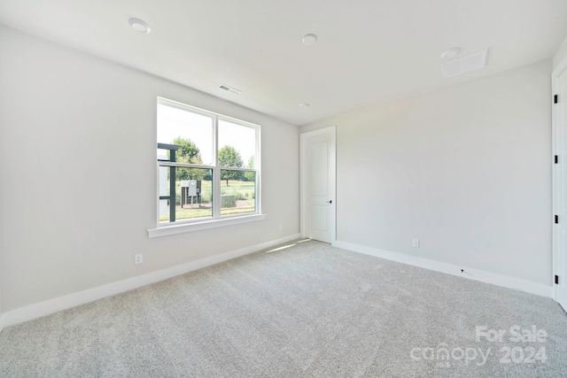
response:
<path id="1" fill-rule="evenodd" d="M 256 211 L 256 173 L 221 169 L 221 215 Z"/>

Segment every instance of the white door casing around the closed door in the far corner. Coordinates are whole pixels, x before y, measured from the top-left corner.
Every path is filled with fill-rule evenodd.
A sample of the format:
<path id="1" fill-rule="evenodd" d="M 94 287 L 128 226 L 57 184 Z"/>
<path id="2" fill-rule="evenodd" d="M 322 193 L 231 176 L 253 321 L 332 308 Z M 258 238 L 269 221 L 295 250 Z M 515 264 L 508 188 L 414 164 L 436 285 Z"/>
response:
<path id="1" fill-rule="evenodd" d="M 299 134 L 299 224 L 307 237 L 307 138 L 330 132 L 330 245 L 337 243 L 337 127 L 330 126 Z"/>

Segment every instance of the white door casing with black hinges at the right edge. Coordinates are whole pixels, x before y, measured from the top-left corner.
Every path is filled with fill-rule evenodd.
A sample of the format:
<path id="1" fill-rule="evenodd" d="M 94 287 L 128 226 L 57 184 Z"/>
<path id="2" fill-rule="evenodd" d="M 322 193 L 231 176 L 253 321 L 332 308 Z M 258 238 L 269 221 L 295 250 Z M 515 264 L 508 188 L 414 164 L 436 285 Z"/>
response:
<path id="1" fill-rule="evenodd" d="M 566 72 L 567 70 L 567 56 L 565 58 L 563 58 L 563 60 L 559 63 L 559 65 L 555 68 L 555 70 L 553 71 L 553 73 L 551 73 L 551 140 L 552 140 L 552 146 L 551 146 L 551 150 L 552 150 L 552 156 L 551 156 L 551 164 L 552 164 L 552 169 L 551 169 L 551 177 L 552 177 L 552 210 L 553 213 L 550 214 L 549 216 L 549 220 L 551 220 L 553 222 L 554 216 L 555 214 L 559 213 L 559 204 L 557 202 L 557 192 L 559 189 L 559 181 L 558 181 L 558 177 L 559 174 L 557 173 L 557 169 L 558 166 L 555 165 L 555 155 L 558 155 L 559 153 L 559 138 L 557 138 L 557 133 L 559 130 L 559 125 L 557 124 L 559 121 L 559 117 L 557 115 L 557 112 L 559 111 L 559 106 L 555 106 L 554 102 L 553 102 L 553 98 L 555 95 L 558 94 L 558 88 L 557 88 L 557 79 L 559 78 L 559 76 L 561 76 L 562 73 L 567 74 Z M 560 101 L 564 101 L 564 99 L 560 99 Z M 565 164 L 563 162 L 567 161 L 567 156 L 565 157 L 560 157 L 561 159 L 561 163 Z M 563 215 L 563 214 L 562 214 Z M 567 215 L 567 214 L 565 214 Z M 565 215 L 563 215 L 563 218 L 565 217 Z M 553 228 L 553 236 L 552 236 L 552 275 L 553 277 L 555 277 L 555 275 L 559 275 L 560 274 L 560 266 L 559 266 L 559 262 L 562 260 L 559 256 L 559 253 L 561 251 L 559 251 L 559 249 L 557 248 L 557 228 L 555 227 L 555 223 L 552 223 L 552 228 Z M 564 253 L 564 252 L 563 252 Z M 567 256 L 564 256 L 563 258 L 567 258 Z M 557 302 L 558 300 L 558 293 L 557 293 L 557 285 L 555 285 L 555 281 L 552 277 L 552 282 L 551 282 L 551 286 L 552 286 L 552 297 L 555 300 L 555 302 Z M 565 280 L 567 279 L 567 277 L 559 277 L 560 280 Z"/>

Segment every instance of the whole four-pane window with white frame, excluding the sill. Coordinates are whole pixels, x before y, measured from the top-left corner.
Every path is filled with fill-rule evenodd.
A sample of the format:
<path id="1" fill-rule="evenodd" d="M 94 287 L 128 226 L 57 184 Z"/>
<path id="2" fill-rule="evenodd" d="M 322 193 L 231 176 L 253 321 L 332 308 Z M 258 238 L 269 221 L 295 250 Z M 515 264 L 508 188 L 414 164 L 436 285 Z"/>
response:
<path id="1" fill-rule="evenodd" d="M 158 225 L 260 214 L 260 127 L 158 98 Z"/>

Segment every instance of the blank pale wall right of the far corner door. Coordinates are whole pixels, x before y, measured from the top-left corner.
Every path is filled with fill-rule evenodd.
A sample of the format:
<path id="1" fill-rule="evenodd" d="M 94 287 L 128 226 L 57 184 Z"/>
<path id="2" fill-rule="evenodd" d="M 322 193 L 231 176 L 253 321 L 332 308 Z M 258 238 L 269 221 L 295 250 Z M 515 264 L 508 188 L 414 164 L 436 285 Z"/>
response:
<path id="1" fill-rule="evenodd" d="M 551 285 L 551 70 L 301 127 L 338 127 L 338 241 Z"/>

